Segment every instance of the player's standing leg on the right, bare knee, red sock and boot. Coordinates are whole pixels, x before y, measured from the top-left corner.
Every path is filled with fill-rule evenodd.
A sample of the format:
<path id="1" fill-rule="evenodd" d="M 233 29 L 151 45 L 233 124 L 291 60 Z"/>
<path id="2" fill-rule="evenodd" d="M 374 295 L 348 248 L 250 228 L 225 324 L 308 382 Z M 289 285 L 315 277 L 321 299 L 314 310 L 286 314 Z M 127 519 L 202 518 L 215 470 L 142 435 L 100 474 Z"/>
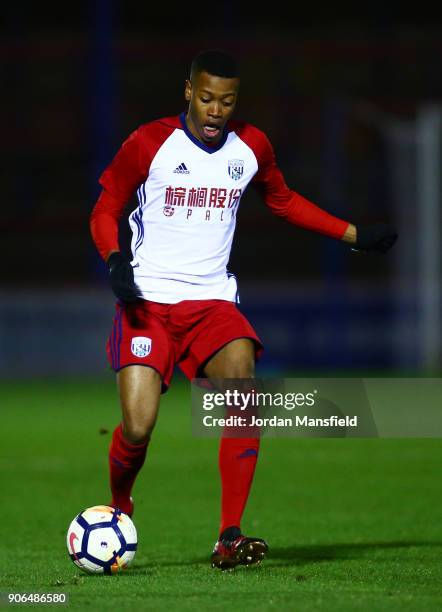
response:
<path id="1" fill-rule="evenodd" d="M 248 338 L 233 340 L 221 348 L 206 364 L 206 376 L 217 386 L 229 379 L 241 380 L 242 391 L 252 390 L 255 375 L 255 344 Z M 227 433 L 227 432 L 226 432 Z M 260 538 L 241 533 L 241 518 L 247 503 L 259 453 L 259 432 L 246 429 L 245 437 L 224 435 L 219 447 L 221 474 L 221 525 L 212 553 L 212 565 L 221 569 L 238 564 L 258 563 L 267 551 Z"/>

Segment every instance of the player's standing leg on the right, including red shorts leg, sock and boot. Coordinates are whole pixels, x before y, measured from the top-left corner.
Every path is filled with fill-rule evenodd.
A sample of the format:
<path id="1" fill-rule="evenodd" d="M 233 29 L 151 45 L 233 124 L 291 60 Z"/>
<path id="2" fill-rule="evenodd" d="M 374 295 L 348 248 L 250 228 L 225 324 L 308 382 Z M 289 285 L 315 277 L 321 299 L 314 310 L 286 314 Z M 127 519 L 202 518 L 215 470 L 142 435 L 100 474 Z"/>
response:
<path id="1" fill-rule="evenodd" d="M 263 347 L 252 325 L 233 302 L 182 302 L 173 310 L 176 329 L 184 330 L 177 342 L 178 364 L 190 380 L 205 376 L 219 386 L 221 379 L 241 379 L 243 384 L 254 386 L 255 360 Z M 251 488 L 258 451 L 259 437 L 255 428 L 244 432 L 243 438 L 224 435 L 221 440 L 220 535 L 228 539 L 218 540 L 215 546 L 212 562 L 216 567 L 224 569 L 239 563 L 249 565 L 260 560 L 267 550 L 263 540 L 253 538 L 254 551 L 250 555 L 248 539 L 240 533 L 241 517 Z M 224 541 L 227 546 L 224 546 Z M 218 552 L 219 557 L 216 556 Z"/>

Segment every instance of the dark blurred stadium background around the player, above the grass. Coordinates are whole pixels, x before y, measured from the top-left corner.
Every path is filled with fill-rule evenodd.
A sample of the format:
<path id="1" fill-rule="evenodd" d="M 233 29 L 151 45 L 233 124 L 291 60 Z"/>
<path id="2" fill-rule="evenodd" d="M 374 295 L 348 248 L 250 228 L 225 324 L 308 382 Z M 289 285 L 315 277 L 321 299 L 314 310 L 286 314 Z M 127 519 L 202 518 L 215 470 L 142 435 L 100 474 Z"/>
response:
<path id="1" fill-rule="evenodd" d="M 232 1 L 166 13 L 121 0 L 25 5 L 2 9 L 3 378 L 109 371 L 114 300 L 89 233 L 98 177 L 141 123 L 185 109 L 190 62 L 209 47 L 238 56 L 236 118 L 268 134 L 292 189 L 356 224 L 391 222 L 400 235 L 386 256 L 352 253 L 245 194 L 229 267 L 266 346 L 261 375 L 439 375 L 435 15 L 279 2 L 261 13 Z"/>

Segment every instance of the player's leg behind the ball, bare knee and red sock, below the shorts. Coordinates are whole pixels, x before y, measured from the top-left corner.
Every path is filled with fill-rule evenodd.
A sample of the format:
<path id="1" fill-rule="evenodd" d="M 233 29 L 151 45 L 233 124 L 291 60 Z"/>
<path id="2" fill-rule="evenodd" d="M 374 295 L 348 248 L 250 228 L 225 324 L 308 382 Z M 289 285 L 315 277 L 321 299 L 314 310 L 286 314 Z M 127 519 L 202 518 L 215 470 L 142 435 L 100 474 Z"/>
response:
<path id="1" fill-rule="evenodd" d="M 161 377 L 151 367 L 130 365 L 117 374 L 122 422 L 109 449 L 112 506 L 132 515 L 131 491 L 146 458 L 158 415 Z"/>

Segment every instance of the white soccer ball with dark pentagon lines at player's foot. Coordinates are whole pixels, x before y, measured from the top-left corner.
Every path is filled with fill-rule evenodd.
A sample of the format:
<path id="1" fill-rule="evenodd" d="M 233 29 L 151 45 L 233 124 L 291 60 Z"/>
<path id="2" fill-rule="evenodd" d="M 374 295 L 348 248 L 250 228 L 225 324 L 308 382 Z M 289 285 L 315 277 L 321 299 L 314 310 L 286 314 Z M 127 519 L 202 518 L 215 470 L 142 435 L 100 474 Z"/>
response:
<path id="1" fill-rule="evenodd" d="M 75 565 L 88 574 L 115 574 L 133 560 L 137 530 L 118 508 L 93 506 L 69 525 L 66 545 Z"/>

